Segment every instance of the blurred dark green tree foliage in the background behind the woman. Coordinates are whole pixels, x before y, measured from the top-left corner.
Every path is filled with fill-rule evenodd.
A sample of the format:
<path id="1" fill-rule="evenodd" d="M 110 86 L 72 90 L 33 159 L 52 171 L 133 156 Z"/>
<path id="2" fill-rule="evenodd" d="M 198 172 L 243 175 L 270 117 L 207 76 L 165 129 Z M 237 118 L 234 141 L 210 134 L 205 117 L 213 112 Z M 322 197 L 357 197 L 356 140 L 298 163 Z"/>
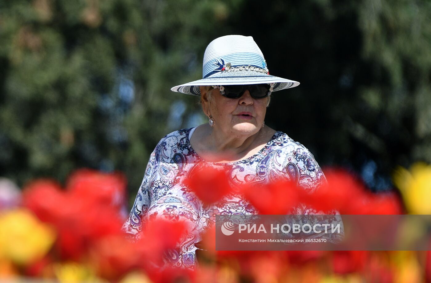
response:
<path id="1" fill-rule="evenodd" d="M 0 0 L 0 175 L 122 170 L 132 195 L 162 136 L 205 119 L 170 88 L 206 45 L 252 35 L 274 94 L 265 123 L 386 189 L 431 162 L 431 2 Z"/>

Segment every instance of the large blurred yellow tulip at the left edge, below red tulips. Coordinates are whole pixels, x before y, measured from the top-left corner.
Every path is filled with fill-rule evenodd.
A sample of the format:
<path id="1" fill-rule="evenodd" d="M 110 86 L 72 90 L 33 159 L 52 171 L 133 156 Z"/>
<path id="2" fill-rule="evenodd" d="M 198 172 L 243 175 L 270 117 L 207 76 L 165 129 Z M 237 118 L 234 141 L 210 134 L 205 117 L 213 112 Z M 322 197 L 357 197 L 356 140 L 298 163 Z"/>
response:
<path id="1" fill-rule="evenodd" d="M 18 265 L 43 258 L 55 240 L 54 230 L 30 211 L 18 209 L 0 213 L 0 258 Z"/>

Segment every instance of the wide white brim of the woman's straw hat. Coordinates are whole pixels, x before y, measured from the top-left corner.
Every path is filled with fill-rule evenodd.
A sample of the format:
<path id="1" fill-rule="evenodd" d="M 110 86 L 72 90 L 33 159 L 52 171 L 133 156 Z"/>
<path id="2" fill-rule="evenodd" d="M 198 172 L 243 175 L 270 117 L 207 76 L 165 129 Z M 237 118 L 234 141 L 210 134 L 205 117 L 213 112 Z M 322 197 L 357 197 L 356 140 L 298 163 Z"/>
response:
<path id="1" fill-rule="evenodd" d="M 188 82 L 171 88 L 172 91 L 191 95 L 200 95 L 200 85 L 256 85 L 275 83 L 274 91 L 281 91 L 286 88 L 294 88 L 300 83 L 290 79 L 283 79 L 274 75 L 254 71 L 219 72 L 206 79 Z"/>

